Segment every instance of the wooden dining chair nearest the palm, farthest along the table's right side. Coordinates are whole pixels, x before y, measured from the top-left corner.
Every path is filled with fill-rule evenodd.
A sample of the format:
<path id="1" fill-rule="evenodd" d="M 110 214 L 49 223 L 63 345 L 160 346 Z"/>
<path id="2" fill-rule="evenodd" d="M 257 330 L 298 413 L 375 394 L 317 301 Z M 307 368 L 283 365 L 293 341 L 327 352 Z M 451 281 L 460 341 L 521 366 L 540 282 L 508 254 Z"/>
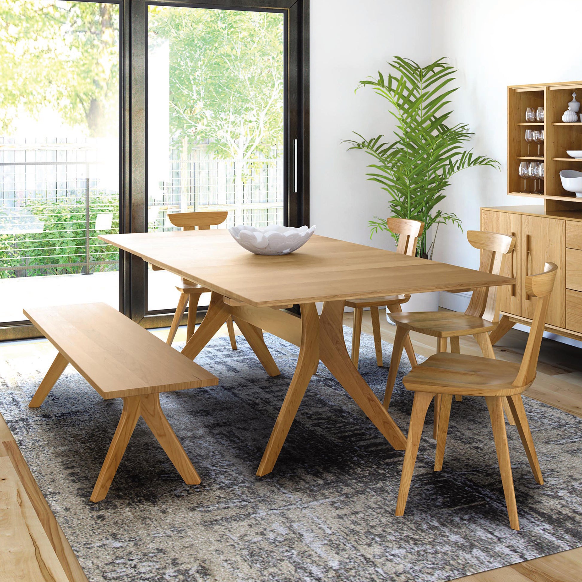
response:
<path id="1" fill-rule="evenodd" d="M 406 220 L 404 218 L 388 218 L 386 225 L 391 232 L 399 235 L 396 252 L 400 254 L 416 255 L 418 237 L 424 230 L 424 222 L 416 220 Z M 364 308 L 370 308 L 372 316 L 372 332 L 374 333 L 374 347 L 376 350 L 376 363 L 382 365 L 382 336 L 380 333 L 380 314 L 378 307 L 388 307 L 391 313 L 400 313 L 402 304 L 410 299 L 410 295 L 388 295 L 384 297 L 373 297 L 372 299 L 351 299 L 346 301 L 346 307 L 353 307 L 354 323 L 352 331 L 352 361 L 356 368 L 360 357 L 360 336 L 362 327 L 362 315 Z M 403 343 L 404 349 L 409 357 L 410 363 L 416 365 L 416 356 L 410 339 L 406 337 Z M 401 352 L 402 353 L 402 352 Z"/>

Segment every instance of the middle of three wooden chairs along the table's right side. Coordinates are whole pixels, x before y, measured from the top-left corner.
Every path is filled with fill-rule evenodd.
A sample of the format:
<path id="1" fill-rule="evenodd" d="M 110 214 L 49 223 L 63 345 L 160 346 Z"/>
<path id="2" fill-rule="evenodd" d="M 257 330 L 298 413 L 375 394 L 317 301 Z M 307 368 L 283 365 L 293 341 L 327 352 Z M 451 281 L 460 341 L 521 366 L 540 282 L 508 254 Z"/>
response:
<path id="1" fill-rule="evenodd" d="M 494 275 L 499 275 L 502 272 L 506 258 L 512 253 L 515 244 L 513 236 L 482 232 L 481 230 L 468 230 L 467 239 L 471 246 L 481 250 L 480 271 L 487 271 Z M 446 352 L 447 342 L 450 338 L 450 351 L 458 354 L 460 352 L 460 336 L 472 335 L 477 340 L 482 354 L 488 358 L 495 358 L 493 347 L 489 341 L 489 332 L 495 329 L 499 321 L 499 294 L 496 287 L 474 289 L 469 307 L 464 313 L 459 311 L 419 311 L 394 313 L 388 317 L 396 324 L 396 335 L 384 395 L 386 409 L 388 409 L 392 398 L 402 348 L 411 331 L 437 338 L 437 353 Z M 456 398 L 460 400 L 462 396 L 456 395 Z M 434 438 L 437 438 L 440 399 L 440 395 L 435 399 Z M 509 406 L 507 403 L 505 404 L 509 422 L 515 424 Z"/>

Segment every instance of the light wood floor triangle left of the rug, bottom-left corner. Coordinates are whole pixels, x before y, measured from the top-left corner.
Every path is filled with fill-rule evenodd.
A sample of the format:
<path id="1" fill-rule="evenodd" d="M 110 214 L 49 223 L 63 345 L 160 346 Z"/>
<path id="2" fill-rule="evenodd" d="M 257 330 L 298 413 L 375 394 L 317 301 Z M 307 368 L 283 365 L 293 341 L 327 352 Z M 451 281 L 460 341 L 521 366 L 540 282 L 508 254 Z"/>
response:
<path id="1" fill-rule="evenodd" d="M 88 582 L 0 414 L 0 580 Z"/>

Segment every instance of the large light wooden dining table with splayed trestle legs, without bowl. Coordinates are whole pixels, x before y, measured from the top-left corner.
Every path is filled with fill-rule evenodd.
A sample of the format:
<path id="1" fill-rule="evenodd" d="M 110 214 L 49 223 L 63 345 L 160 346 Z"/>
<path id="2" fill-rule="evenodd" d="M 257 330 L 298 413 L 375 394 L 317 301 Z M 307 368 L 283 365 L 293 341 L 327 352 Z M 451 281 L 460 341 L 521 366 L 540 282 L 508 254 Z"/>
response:
<path id="1" fill-rule="evenodd" d="M 270 473 L 321 361 L 396 450 L 406 437 L 347 353 L 347 299 L 513 285 L 514 279 L 314 235 L 283 256 L 244 250 L 228 230 L 100 236 L 156 267 L 211 290 L 207 314 L 182 349 L 190 359 L 232 316 L 270 376 L 279 368 L 262 331 L 299 346 L 299 358 L 257 475 Z M 318 315 L 316 303 L 324 304 Z M 300 306 L 300 317 L 286 310 Z"/>

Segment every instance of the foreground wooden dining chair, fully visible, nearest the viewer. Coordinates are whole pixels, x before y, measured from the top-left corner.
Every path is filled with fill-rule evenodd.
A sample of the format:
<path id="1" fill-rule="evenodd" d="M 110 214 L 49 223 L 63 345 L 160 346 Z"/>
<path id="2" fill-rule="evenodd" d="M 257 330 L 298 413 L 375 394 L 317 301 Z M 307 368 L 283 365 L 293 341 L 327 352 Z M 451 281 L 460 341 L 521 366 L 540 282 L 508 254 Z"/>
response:
<path id="1" fill-rule="evenodd" d="M 440 471 L 445 455 L 452 395 L 484 396 L 489 409 L 489 417 L 491 417 L 509 523 L 512 529 L 519 530 L 502 398 L 507 398 L 509 401 L 517 431 L 523 447 L 526 449 L 527 459 L 530 462 L 535 480 L 543 485 L 540 463 L 538 463 L 538 457 L 535 453 L 521 393 L 527 390 L 535 379 L 535 368 L 544 334 L 549 297 L 557 271 L 558 267 L 554 263 L 546 262 L 543 273 L 526 277 L 526 293 L 530 297 L 537 297 L 537 300 L 535 301 L 530 336 L 527 339 L 521 364 L 491 360 L 482 356 L 442 352 L 431 356 L 422 364 L 414 367 L 410 374 L 404 376 L 404 386 L 407 390 L 414 392 L 414 402 L 410 416 L 406 452 L 404 453 L 398 502 L 396 503 L 397 516 L 404 514 L 418 445 L 423 432 L 424 418 L 431 400 L 437 395 L 442 396 L 441 420 L 438 427 L 437 454 L 434 466 L 435 471 Z"/>

